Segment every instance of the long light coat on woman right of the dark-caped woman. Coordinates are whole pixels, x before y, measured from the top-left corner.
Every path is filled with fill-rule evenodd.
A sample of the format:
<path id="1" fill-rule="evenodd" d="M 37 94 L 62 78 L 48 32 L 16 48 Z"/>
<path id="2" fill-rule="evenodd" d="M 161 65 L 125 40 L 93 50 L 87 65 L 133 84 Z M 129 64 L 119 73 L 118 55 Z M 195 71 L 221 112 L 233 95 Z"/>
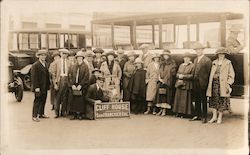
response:
<path id="1" fill-rule="evenodd" d="M 160 67 L 160 66 L 159 66 Z M 146 84 L 147 84 L 147 101 L 154 101 L 157 92 L 157 81 L 159 80 L 160 71 L 156 68 L 154 62 L 147 67 Z"/>

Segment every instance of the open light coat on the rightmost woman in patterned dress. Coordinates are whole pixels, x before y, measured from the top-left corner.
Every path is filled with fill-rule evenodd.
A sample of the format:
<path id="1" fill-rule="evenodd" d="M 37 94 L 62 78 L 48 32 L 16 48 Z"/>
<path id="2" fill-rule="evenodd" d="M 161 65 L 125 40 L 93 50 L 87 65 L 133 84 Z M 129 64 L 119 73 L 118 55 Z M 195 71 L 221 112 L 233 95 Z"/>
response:
<path id="1" fill-rule="evenodd" d="M 215 71 L 218 66 L 218 59 L 214 60 L 212 63 L 212 69 L 210 72 L 209 83 L 207 88 L 207 96 L 212 96 L 212 83 Z M 234 69 L 230 60 L 224 59 L 220 69 L 220 96 L 221 97 L 230 97 L 231 85 L 234 83 Z"/>

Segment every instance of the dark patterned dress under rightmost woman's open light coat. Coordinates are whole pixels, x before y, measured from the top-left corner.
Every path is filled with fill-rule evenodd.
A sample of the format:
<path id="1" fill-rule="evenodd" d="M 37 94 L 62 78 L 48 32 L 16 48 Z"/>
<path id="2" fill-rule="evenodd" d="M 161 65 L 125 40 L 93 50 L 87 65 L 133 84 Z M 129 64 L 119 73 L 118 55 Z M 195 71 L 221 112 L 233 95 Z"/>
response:
<path id="1" fill-rule="evenodd" d="M 220 96 L 220 68 L 221 65 L 218 65 L 213 77 L 212 97 L 209 98 L 209 107 L 223 112 L 230 110 L 230 97 Z"/>

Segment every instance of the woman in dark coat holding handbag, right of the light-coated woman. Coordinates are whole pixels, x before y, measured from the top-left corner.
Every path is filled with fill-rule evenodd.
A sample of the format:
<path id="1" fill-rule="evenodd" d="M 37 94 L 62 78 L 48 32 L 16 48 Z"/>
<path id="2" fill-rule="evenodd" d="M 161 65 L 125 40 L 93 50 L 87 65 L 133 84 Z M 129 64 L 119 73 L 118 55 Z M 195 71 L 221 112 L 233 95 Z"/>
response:
<path id="1" fill-rule="evenodd" d="M 173 103 L 173 87 L 176 75 L 176 63 L 171 58 L 171 52 L 164 50 L 160 62 L 160 76 L 156 94 L 156 107 L 160 111 L 156 115 L 165 116 L 166 109 L 170 109 Z"/>

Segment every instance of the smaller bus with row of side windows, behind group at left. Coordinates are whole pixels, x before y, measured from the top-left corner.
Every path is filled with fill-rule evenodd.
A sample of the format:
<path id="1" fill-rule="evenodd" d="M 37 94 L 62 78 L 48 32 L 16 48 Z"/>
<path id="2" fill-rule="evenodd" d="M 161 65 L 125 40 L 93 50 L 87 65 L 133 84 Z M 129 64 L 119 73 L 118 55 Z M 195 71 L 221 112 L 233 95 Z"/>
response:
<path id="1" fill-rule="evenodd" d="M 59 48 L 79 51 L 91 43 L 91 33 L 65 29 L 13 30 L 9 33 L 9 61 L 13 69 L 21 73 L 24 87 L 30 89 L 30 68 L 37 60 L 35 54 L 40 49 L 48 50 L 47 62 Z"/>

